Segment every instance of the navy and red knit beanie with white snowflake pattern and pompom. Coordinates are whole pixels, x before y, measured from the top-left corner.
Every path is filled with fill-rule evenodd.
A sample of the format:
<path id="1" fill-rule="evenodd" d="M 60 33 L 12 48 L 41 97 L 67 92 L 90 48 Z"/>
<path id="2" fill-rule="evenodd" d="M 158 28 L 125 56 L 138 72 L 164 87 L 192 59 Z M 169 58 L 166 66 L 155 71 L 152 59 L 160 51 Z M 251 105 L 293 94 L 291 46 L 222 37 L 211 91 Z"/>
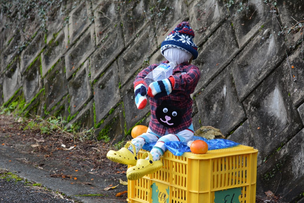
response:
<path id="1" fill-rule="evenodd" d="M 197 46 L 193 43 L 194 32 L 189 25 L 189 22 L 181 22 L 161 43 L 161 54 L 164 55 L 164 50 L 170 47 L 179 48 L 193 55 L 193 59 L 198 56 Z"/>

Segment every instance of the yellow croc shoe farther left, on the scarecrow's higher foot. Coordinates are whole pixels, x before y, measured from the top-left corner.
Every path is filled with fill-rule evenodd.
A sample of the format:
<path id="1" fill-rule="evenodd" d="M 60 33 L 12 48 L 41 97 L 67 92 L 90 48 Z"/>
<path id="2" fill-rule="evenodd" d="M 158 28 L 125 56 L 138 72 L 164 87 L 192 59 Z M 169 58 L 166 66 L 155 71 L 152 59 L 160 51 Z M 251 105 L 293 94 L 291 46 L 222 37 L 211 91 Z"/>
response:
<path id="1" fill-rule="evenodd" d="M 128 150 L 129 146 L 133 147 L 133 154 Z M 128 165 L 136 165 L 136 149 L 135 146 L 131 143 L 131 141 L 128 141 L 125 145 L 125 147 L 121 148 L 118 151 L 110 150 L 107 153 L 107 158 L 111 161 L 117 162 L 117 163 L 123 163 Z"/>

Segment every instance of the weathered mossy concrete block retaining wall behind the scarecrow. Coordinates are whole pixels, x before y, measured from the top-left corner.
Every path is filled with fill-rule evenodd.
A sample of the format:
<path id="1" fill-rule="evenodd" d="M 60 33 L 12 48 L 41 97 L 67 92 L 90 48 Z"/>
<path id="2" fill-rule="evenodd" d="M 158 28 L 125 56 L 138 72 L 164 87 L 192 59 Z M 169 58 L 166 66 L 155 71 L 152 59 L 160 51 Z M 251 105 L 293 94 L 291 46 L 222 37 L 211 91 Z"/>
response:
<path id="1" fill-rule="evenodd" d="M 150 119 L 150 106 L 134 103 L 134 78 L 164 60 L 161 42 L 189 21 L 201 71 L 195 130 L 214 126 L 259 150 L 258 195 L 304 201 L 303 7 L 304 0 L 2 1 L 0 105 L 22 98 L 32 115 L 97 128 L 98 139 L 112 143 L 130 139 L 133 126 Z"/>

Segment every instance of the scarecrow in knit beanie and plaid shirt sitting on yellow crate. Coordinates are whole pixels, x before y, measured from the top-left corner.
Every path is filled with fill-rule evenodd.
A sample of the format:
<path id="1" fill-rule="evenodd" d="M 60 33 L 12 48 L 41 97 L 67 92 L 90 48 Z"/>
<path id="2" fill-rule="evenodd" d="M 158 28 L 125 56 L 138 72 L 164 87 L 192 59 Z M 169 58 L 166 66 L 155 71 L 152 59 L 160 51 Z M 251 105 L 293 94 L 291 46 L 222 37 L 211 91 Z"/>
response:
<path id="1" fill-rule="evenodd" d="M 160 158 L 167 150 L 166 142 L 184 141 L 194 136 L 190 95 L 199 81 L 200 71 L 191 64 L 192 59 L 198 56 L 193 38 L 194 32 L 188 22 L 178 24 L 161 43 L 161 53 L 167 59 L 162 63 L 173 62 L 173 74 L 147 86 L 145 77 L 159 65 L 152 64 L 141 71 L 134 81 L 137 108 L 143 109 L 147 100 L 150 101 L 149 128 L 146 133 L 127 142 L 122 149 L 110 150 L 107 154 L 112 161 L 133 165 L 126 172 L 129 180 L 140 179 L 163 166 Z M 143 145 L 152 142 L 156 142 L 152 150 L 137 159 Z"/>

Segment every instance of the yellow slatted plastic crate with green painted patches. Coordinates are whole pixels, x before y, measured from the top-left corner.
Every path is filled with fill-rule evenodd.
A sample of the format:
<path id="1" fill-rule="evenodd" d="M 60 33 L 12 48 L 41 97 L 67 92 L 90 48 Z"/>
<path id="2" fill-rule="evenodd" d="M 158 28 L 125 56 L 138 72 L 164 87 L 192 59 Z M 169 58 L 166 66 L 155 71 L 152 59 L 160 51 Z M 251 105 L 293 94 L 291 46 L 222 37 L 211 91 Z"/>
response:
<path id="1" fill-rule="evenodd" d="M 139 157 L 144 152 L 140 150 Z M 128 181 L 127 201 L 254 203 L 257 152 L 244 145 L 209 150 L 206 154 L 186 152 L 183 156 L 174 156 L 167 150 L 160 170 Z"/>

